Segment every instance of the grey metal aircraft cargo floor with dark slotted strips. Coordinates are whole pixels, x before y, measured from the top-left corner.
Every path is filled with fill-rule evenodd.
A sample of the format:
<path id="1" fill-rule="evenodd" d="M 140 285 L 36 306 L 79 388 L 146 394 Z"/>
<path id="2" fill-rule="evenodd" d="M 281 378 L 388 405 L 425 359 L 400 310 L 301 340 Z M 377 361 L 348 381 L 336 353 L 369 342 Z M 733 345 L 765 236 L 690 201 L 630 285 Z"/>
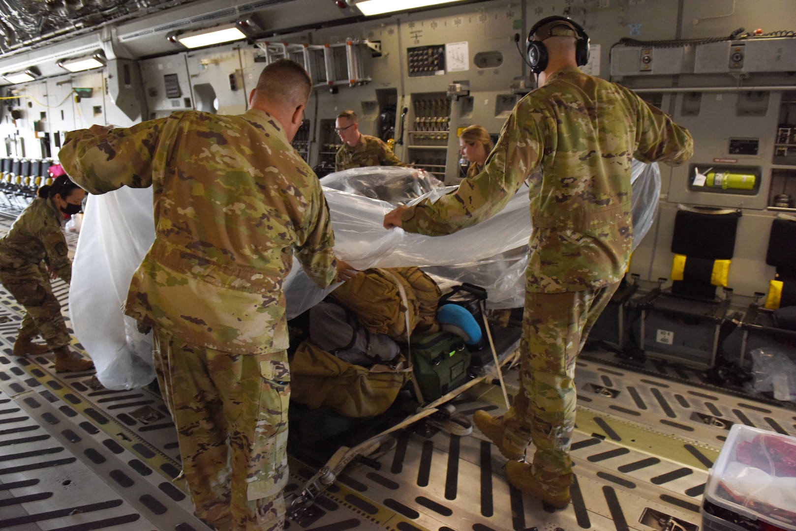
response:
<path id="1" fill-rule="evenodd" d="M 10 221 L 2 217 L 0 230 Z M 60 280 L 53 287 L 68 316 L 67 287 Z M 0 291 L 0 529 L 207 529 L 193 516 L 184 482 L 174 481 L 176 432 L 158 392 L 111 391 L 93 371 L 55 373 L 53 354 L 14 357 L 20 320 L 21 306 Z M 517 371 L 505 377 L 516 389 Z M 693 369 L 630 368 L 610 353 L 584 353 L 576 385 L 576 482 L 565 510 L 510 487 L 505 459 L 477 429 L 459 437 L 410 428 L 376 459 L 378 470 L 349 466 L 286 527 L 696 531 L 707 470 L 732 424 L 796 435 L 788 404 L 712 387 Z M 454 404 L 468 416 L 505 409 L 491 383 Z M 288 493 L 323 464 L 290 453 Z"/>

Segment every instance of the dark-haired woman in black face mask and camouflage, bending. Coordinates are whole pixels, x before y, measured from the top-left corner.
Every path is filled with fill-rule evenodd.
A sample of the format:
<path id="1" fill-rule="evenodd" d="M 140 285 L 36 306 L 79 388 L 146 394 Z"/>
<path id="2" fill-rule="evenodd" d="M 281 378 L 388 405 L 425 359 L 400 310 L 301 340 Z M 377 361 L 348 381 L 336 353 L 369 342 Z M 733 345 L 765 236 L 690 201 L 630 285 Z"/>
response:
<path id="1" fill-rule="evenodd" d="M 14 355 L 55 352 L 55 369 L 82 371 L 94 364 L 69 349 L 71 338 L 66 330 L 60 303 L 49 279 L 60 276 L 65 283 L 72 279 L 72 261 L 61 223 L 64 214 L 80 212 L 85 191 L 60 174 L 52 185 L 42 186 L 38 196 L 14 221 L 6 236 L 0 238 L 0 282 L 14 299 L 25 306 L 25 317 L 14 342 Z M 45 264 L 46 262 L 46 264 Z M 33 343 L 38 334 L 47 345 Z"/>

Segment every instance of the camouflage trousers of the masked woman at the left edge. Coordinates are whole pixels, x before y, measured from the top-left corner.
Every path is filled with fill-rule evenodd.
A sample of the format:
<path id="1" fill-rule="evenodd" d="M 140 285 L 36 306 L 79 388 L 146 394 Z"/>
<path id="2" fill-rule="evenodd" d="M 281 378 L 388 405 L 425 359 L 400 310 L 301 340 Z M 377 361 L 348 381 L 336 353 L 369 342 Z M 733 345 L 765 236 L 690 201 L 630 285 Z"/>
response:
<path id="1" fill-rule="evenodd" d="M 53 294 L 43 263 L 29 264 L 13 271 L 0 269 L 0 282 L 25 307 L 19 336 L 35 338 L 41 334 L 51 349 L 69 344 L 71 339 L 64 315 L 60 313 L 60 303 Z"/>

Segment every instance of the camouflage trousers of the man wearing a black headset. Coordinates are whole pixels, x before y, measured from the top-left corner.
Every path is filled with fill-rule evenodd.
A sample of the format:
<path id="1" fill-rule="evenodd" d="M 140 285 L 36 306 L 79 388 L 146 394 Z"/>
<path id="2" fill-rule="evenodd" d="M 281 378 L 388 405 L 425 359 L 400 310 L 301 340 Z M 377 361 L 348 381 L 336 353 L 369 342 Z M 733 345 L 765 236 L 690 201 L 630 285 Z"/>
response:
<path id="1" fill-rule="evenodd" d="M 525 292 L 521 389 L 504 416 L 509 439 L 533 442 L 533 474 L 552 494 L 572 483 L 572 429 L 577 392 L 575 362 L 619 283 L 589 291 Z"/>

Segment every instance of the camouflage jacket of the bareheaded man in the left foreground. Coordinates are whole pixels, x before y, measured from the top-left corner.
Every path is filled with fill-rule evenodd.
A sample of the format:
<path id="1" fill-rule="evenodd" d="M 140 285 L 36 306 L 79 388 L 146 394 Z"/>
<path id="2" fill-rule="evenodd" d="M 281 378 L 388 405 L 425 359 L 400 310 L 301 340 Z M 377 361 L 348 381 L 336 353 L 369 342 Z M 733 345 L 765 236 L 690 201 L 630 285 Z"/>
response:
<path id="1" fill-rule="evenodd" d="M 175 112 L 129 129 L 72 131 L 64 170 L 90 193 L 153 186 L 154 244 L 125 313 L 233 353 L 286 349 L 293 251 L 318 286 L 337 272 L 318 178 L 264 111 Z"/>

